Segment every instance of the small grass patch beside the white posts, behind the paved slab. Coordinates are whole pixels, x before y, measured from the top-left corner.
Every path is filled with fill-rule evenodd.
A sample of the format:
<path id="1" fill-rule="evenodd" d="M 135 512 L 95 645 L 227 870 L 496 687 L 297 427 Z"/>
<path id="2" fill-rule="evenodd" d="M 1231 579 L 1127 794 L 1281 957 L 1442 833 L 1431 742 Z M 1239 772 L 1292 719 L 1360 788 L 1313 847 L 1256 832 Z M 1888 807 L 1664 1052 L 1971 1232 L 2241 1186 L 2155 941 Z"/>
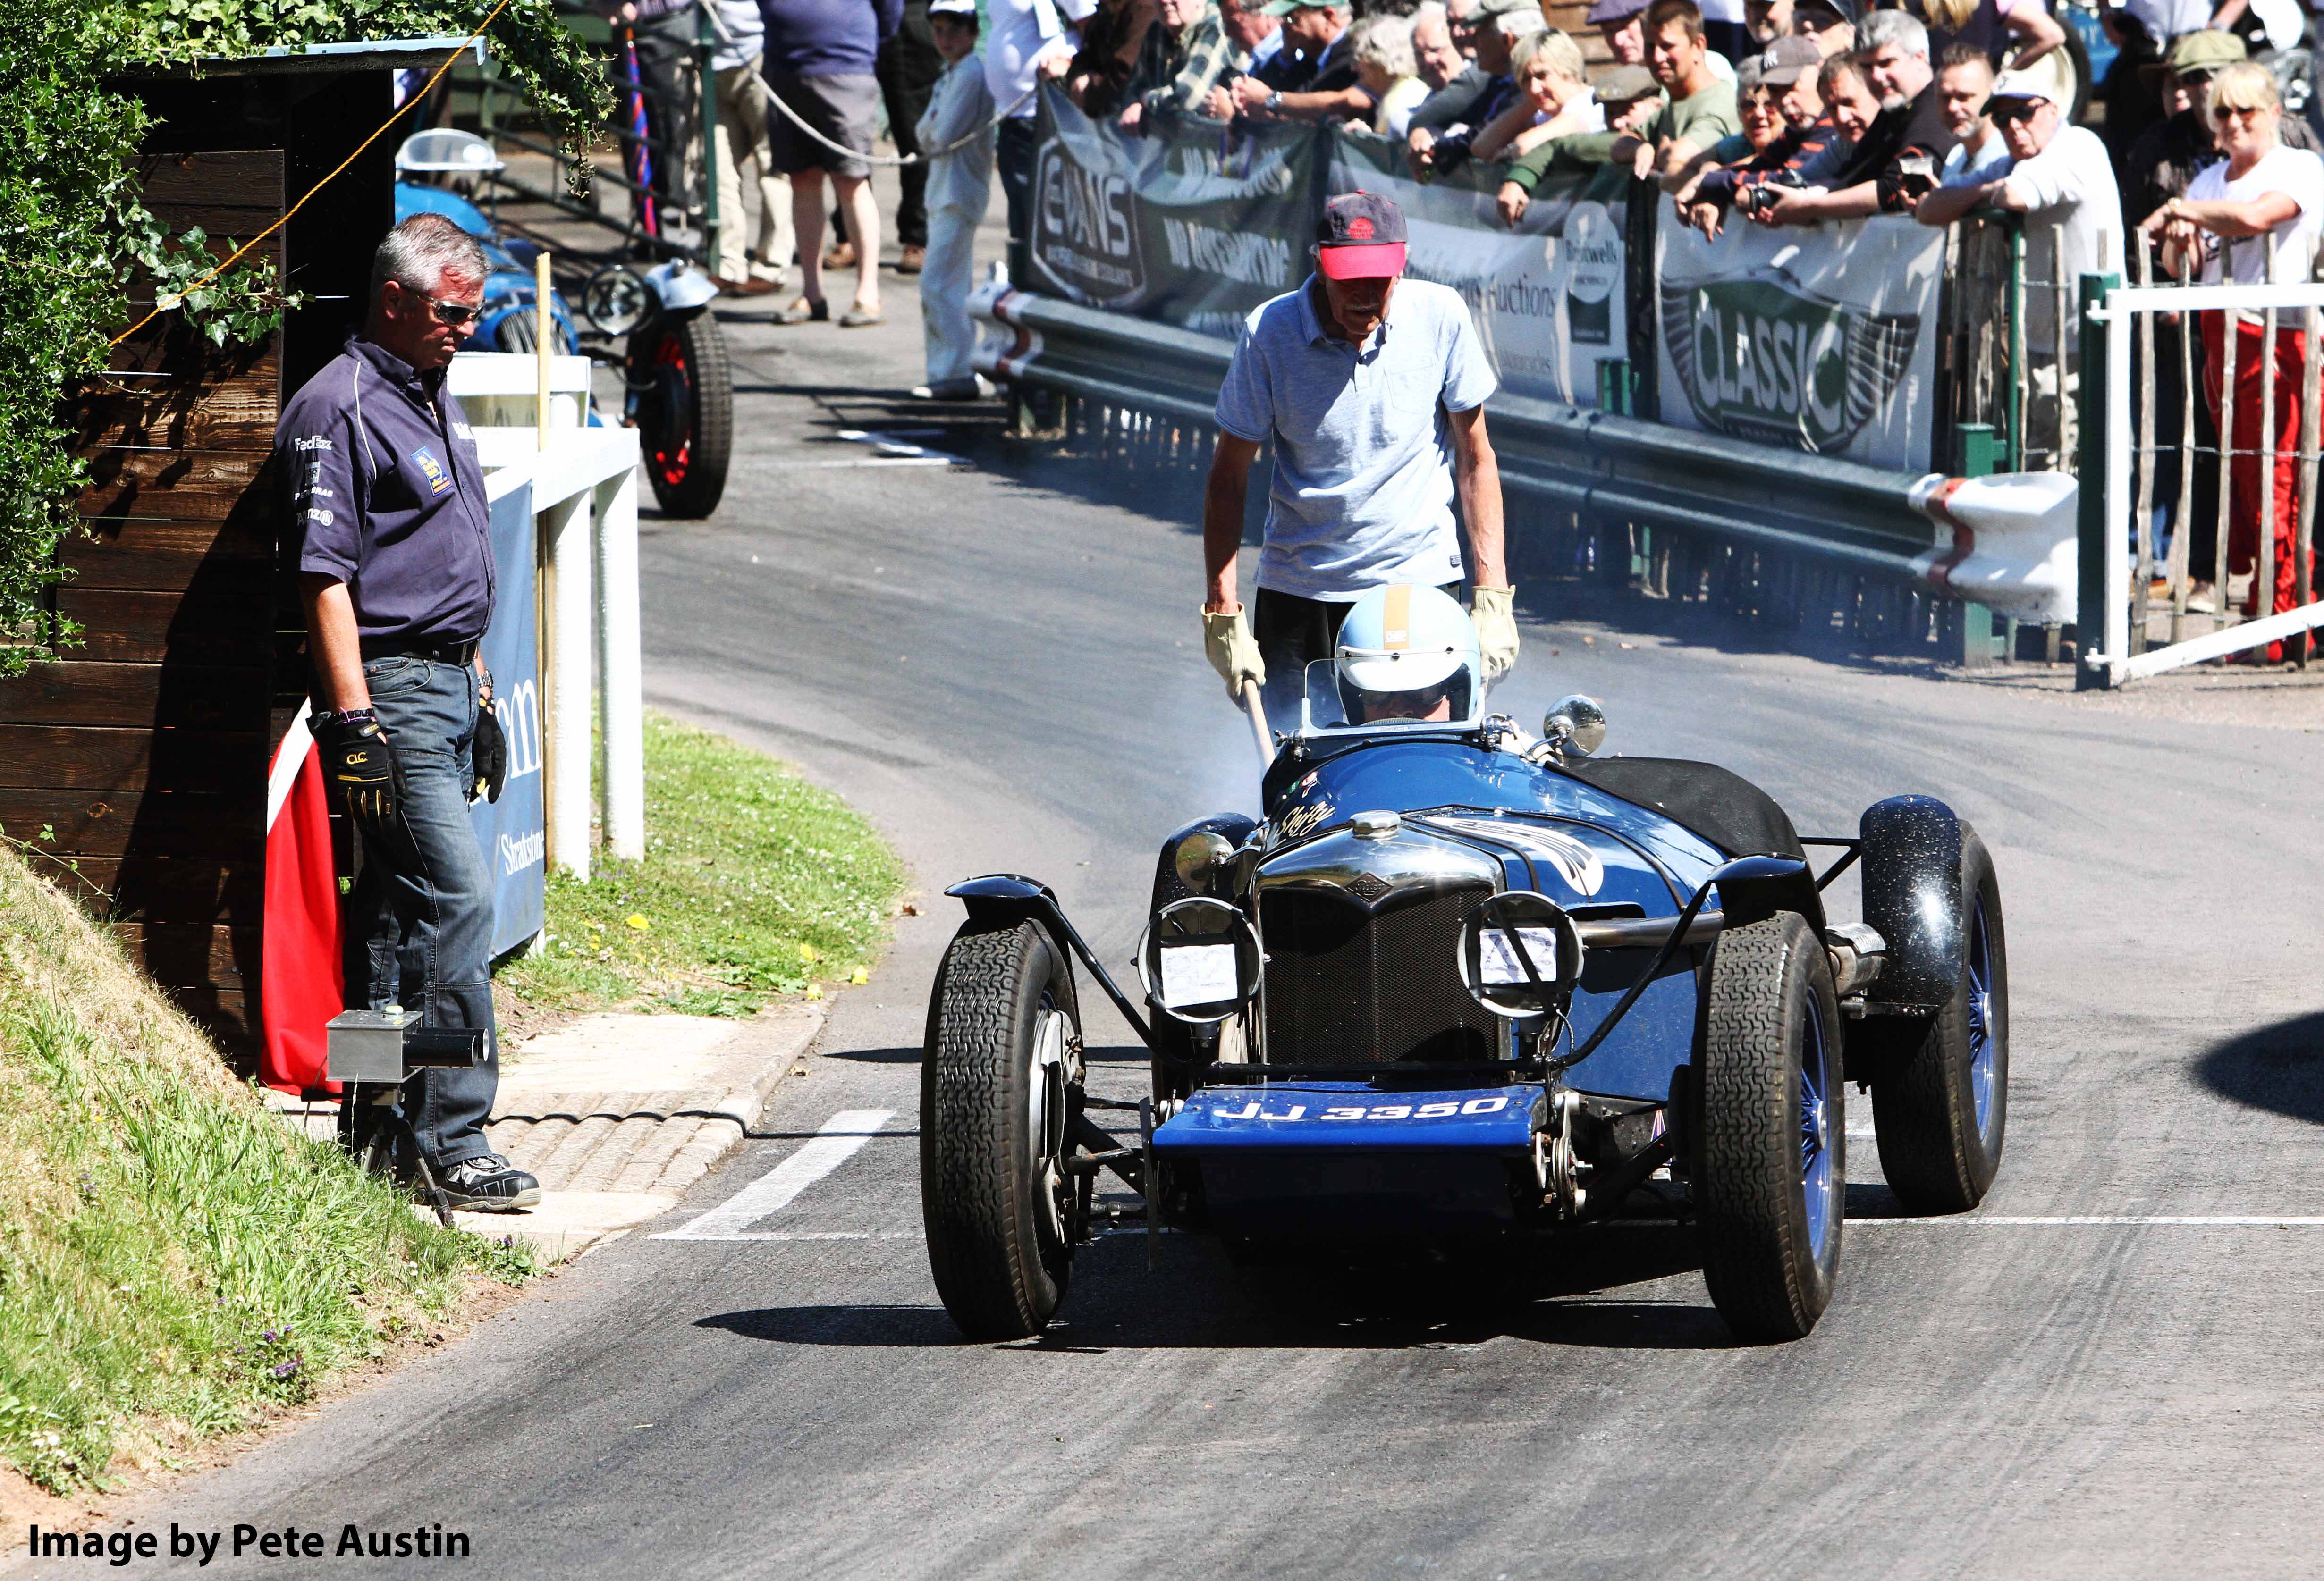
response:
<path id="1" fill-rule="evenodd" d="M 646 858 L 548 879 L 548 944 L 495 986 L 541 1011 L 748 1016 L 865 981 L 904 865 L 846 802 L 723 735 L 646 714 Z"/>

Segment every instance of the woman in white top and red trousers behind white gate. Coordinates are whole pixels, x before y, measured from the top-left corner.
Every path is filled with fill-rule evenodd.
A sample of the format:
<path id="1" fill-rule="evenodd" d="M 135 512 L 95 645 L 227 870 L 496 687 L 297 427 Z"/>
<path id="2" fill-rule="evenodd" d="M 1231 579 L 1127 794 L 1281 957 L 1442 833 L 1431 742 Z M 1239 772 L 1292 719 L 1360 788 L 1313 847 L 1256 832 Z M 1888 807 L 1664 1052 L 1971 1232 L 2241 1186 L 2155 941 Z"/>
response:
<path id="1" fill-rule="evenodd" d="M 2164 272 L 2175 274 L 2180 258 L 2203 265 L 2203 281 L 2222 279 L 2257 286 L 2268 279 L 2275 260 L 2278 284 L 2303 284 L 2315 277 L 2319 219 L 2324 219 L 2324 160 L 2305 149 L 2278 142 L 2282 100 L 2275 74 L 2254 60 L 2238 60 L 2210 79 L 2210 119 L 2219 130 L 2226 160 L 2210 165 L 2187 184 L 2185 198 L 2173 198 L 2147 216 L 2145 228 L 2164 242 Z M 2282 321 L 2289 314 L 2282 314 Z M 2226 328 L 2222 314 L 2203 314 L 2203 398 L 2212 421 L 2226 400 Z M 2298 330 L 2275 332 L 2275 453 L 2266 479 L 2259 465 L 2259 432 L 2266 356 L 2266 328 L 2259 314 L 2233 312 L 2236 319 L 2236 412 L 2233 467 L 2229 470 L 2229 572 L 2243 574 L 2259 560 L 2259 523 L 2268 521 L 2275 537 L 2275 591 L 2268 604 L 2280 614 L 2296 607 L 2294 544 L 2294 460 L 2301 432 L 2301 353 Z M 2261 488 L 2266 500 L 2261 502 Z M 2257 616 L 2259 579 L 2243 611 Z M 2282 644 L 2268 644 L 2268 660 L 2282 658 Z"/>

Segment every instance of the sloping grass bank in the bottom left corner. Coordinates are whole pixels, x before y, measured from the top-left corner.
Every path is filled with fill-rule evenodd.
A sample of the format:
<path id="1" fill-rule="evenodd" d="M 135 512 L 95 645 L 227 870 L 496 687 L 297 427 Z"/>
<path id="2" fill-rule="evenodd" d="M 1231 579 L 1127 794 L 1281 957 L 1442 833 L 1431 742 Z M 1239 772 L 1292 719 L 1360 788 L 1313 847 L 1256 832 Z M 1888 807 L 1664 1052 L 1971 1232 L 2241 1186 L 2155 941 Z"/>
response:
<path id="1" fill-rule="evenodd" d="M 270 1118 L 14 844 L 0 918 L 0 1460 L 167 1467 L 530 1272 Z"/>

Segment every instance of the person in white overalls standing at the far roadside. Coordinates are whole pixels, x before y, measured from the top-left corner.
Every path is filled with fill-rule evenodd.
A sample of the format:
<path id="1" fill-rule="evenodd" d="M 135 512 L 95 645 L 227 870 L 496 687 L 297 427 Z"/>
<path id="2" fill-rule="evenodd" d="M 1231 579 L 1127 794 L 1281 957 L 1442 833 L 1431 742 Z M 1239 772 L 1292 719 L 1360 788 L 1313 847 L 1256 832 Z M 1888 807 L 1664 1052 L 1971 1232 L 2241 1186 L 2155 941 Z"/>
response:
<path id="1" fill-rule="evenodd" d="M 920 116 L 920 149 L 962 146 L 927 160 L 927 265 L 920 270 L 927 384 L 913 395 L 978 400 L 988 386 L 969 367 L 976 349 L 969 288 L 976 284 L 976 228 L 992 193 L 992 88 L 976 58 L 976 0 L 927 0 L 927 28 L 944 56 L 944 77 Z"/>

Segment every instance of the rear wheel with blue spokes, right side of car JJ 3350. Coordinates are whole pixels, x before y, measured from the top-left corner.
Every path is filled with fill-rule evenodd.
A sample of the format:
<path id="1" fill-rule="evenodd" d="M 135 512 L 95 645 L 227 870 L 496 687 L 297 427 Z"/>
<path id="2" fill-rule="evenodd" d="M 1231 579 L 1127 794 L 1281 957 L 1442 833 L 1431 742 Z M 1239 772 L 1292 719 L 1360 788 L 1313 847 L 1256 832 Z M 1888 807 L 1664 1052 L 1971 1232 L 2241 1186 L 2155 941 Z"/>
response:
<path id="1" fill-rule="evenodd" d="M 1961 828 L 1961 974 L 1927 1021 L 1887 1018 L 1873 1125 L 1889 1190 L 1917 1214 L 1966 1214 L 2001 1169 L 2010 1116 L 2010 953 L 2001 881 Z M 1980 1053 L 1985 1058 L 1980 1058 Z M 1980 1093 L 1982 1088 L 1982 1093 Z"/>

